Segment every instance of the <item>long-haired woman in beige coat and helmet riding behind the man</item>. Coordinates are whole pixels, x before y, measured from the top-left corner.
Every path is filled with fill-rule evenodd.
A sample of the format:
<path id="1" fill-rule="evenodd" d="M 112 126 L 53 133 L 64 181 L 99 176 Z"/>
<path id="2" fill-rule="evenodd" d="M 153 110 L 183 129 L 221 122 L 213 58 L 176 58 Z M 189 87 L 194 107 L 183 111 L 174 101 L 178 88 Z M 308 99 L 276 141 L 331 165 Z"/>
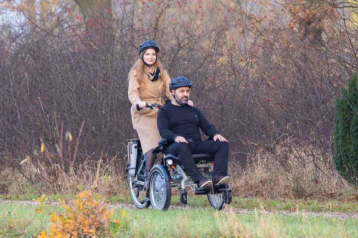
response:
<path id="1" fill-rule="evenodd" d="M 158 109 L 137 111 L 136 104 L 145 108 L 146 103 L 164 105 L 163 95 L 172 99 L 169 91 L 170 77 L 157 59 L 159 46 L 153 40 L 143 41 L 139 47 L 138 59 L 128 74 L 128 98 L 132 103 L 131 116 L 133 128 L 137 130 L 143 154 L 145 154 L 145 181 L 146 187 L 150 169 L 154 165 L 156 154 L 151 148 L 158 145 L 160 135 L 156 124 Z M 192 101 L 188 101 L 193 105 Z"/>

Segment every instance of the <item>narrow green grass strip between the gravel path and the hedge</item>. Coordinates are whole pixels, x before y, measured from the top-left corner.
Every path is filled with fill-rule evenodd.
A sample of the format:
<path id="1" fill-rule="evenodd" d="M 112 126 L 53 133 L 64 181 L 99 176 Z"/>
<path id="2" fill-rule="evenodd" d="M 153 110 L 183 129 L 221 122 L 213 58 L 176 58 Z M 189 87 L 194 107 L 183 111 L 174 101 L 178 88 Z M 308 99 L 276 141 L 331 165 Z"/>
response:
<path id="1" fill-rule="evenodd" d="M 0 200 L 32 200 L 39 197 L 40 194 L 27 195 L 0 195 Z M 63 194 L 47 195 L 49 201 L 57 201 L 66 197 Z M 132 203 L 129 195 L 116 195 L 108 198 L 109 203 Z M 171 197 L 172 205 L 179 205 L 179 196 Z M 208 199 L 205 195 L 188 195 L 188 205 L 195 207 L 209 207 Z M 342 200 L 303 200 L 303 199 L 260 199 L 260 198 L 237 198 L 234 197 L 231 203 L 232 207 L 244 209 L 269 209 L 269 210 L 294 210 L 305 212 L 358 212 L 357 201 Z"/>

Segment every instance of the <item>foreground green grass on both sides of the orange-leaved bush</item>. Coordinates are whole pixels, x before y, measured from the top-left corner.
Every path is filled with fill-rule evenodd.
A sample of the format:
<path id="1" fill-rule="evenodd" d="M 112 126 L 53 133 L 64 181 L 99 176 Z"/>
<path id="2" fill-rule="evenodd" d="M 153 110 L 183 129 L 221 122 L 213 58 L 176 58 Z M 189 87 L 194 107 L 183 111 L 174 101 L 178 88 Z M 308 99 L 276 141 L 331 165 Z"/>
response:
<path id="1" fill-rule="evenodd" d="M 0 237 L 33 237 L 48 230 L 49 212 L 60 207 L 0 204 Z M 122 218 L 115 209 L 114 219 Z M 113 237 L 357 237 L 358 219 L 337 220 L 323 217 L 234 214 L 211 208 L 184 210 L 127 210 Z"/>

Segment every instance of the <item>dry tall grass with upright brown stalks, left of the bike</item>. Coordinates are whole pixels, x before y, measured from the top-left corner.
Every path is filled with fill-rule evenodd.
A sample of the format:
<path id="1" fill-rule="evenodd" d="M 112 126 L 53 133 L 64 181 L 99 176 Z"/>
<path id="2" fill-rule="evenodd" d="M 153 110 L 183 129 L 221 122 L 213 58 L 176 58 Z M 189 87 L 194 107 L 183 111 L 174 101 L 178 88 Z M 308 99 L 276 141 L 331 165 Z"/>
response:
<path id="1" fill-rule="evenodd" d="M 39 193 L 76 194 L 86 189 L 108 196 L 126 193 L 124 160 L 103 153 L 99 158 L 78 153 L 83 125 L 84 122 L 76 139 L 66 132 L 65 143 L 63 123 L 61 129 L 56 124 L 58 143 L 55 152 L 48 150 L 40 138 L 40 148 L 35 147 L 27 155 L 8 154 L 8 164 L 0 165 L 0 192 L 37 190 Z M 16 158 L 20 156 L 24 158 Z M 17 164 L 16 161 L 20 162 Z"/>

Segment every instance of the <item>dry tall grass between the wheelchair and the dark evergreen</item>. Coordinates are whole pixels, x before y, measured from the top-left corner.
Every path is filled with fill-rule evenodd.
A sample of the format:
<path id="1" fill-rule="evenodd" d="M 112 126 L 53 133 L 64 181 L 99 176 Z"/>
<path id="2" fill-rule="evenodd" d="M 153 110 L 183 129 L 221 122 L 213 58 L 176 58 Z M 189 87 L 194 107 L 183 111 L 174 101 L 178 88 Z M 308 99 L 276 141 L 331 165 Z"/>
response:
<path id="1" fill-rule="evenodd" d="M 291 139 L 272 149 L 248 154 L 245 169 L 231 165 L 236 196 L 263 198 L 332 198 L 351 186 L 334 169 L 332 154 Z"/>

